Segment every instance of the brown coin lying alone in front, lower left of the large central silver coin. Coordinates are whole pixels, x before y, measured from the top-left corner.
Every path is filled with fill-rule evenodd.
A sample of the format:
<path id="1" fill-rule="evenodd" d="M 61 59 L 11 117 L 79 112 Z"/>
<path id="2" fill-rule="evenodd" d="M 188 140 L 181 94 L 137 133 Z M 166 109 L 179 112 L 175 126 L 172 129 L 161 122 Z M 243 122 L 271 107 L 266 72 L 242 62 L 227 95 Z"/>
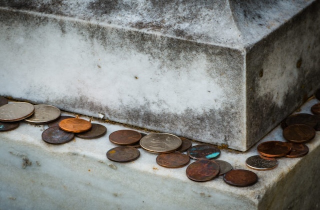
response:
<path id="1" fill-rule="evenodd" d="M 130 162 L 136 160 L 139 156 L 138 149 L 130 146 L 115 147 L 106 153 L 106 157 L 115 162 Z"/>

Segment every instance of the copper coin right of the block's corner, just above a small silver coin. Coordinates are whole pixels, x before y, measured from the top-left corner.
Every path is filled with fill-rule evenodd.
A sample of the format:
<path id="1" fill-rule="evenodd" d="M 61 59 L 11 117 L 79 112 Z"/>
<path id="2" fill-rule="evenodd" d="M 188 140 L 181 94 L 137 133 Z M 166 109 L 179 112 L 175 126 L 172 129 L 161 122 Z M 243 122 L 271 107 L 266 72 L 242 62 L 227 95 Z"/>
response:
<path id="1" fill-rule="evenodd" d="M 291 149 L 291 145 L 287 142 L 279 142 L 279 141 L 269 141 L 263 142 L 258 145 L 258 152 L 270 158 L 278 158 L 285 156 Z"/>

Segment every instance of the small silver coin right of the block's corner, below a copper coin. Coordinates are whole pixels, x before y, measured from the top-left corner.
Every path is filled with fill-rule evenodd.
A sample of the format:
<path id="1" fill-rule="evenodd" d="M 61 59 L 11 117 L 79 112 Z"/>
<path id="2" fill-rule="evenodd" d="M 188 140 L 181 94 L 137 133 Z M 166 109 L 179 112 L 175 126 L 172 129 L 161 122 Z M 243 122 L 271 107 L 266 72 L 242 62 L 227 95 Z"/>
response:
<path id="1" fill-rule="evenodd" d="M 254 155 L 246 159 L 245 165 L 255 170 L 270 170 L 274 169 L 278 165 L 278 162 L 275 158 Z"/>

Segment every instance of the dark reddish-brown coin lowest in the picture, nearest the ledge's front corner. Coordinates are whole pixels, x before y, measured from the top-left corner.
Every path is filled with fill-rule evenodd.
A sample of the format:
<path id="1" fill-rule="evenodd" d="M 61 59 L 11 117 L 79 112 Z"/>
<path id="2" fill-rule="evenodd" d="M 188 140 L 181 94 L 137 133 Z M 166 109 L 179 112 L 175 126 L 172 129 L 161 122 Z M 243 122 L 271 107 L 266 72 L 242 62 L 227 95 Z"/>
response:
<path id="1" fill-rule="evenodd" d="M 248 170 L 231 170 L 223 175 L 223 181 L 226 184 L 236 187 L 247 187 L 257 182 L 258 176 Z"/>

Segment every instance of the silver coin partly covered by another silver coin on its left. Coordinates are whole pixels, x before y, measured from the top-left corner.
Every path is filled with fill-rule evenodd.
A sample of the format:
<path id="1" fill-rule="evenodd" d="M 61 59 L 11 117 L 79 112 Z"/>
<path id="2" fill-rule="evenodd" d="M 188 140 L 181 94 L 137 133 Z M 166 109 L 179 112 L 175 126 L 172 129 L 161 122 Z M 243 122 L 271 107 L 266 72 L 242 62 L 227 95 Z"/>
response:
<path id="1" fill-rule="evenodd" d="M 46 124 L 60 117 L 60 110 L 55 106 L 46 104 L 34 105 L 34 113 L 24 121 L 34 124 Z"/>

